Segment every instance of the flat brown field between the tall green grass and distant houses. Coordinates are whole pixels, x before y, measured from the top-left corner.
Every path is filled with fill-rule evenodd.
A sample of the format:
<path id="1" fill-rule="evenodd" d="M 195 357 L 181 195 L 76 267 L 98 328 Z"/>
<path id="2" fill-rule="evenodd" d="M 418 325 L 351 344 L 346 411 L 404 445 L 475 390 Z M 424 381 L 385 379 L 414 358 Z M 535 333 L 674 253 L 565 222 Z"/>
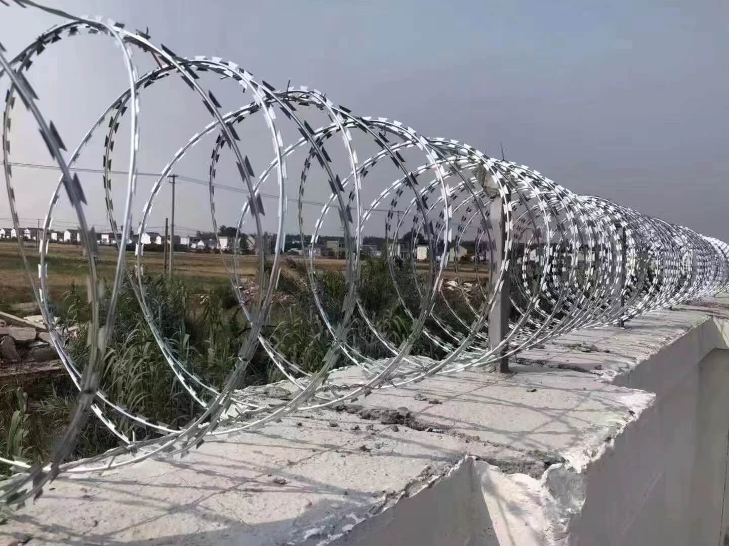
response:
<path id="1" fill-rule="evenodd" d="M 26 257 L 31 264 L 34 276 L 39 263 L 38 253 L 34 243 L 26 244 Z M 290 258 L 287 256 L 287 258 Z M 293 257 L 295 260 L 303 258 Z M 117 261 L 117 250 L 114 247 L 100 246 L 96 261 L 98 274 L 103 279 L 111 281 Z M 127 252 L 128 264 L 135 264 L 133 252 Z M 79 245 L 50 244 L 48 248 L 48 282 L 52 301 L 58 302 L 63 293 L 69 289 L 71 282 L 83 284 L 87 274 L 87 261 Z M 238 258 L 239 270 L 244 276 L 254 277 L 258 268 L 257 256 L 241 256 Z M 147 273 L 161 273 L 164 265 L 164 256 L 161 252 L 144 253 L 144 267 Z M 174 270 L 177 275 L 187 280 L 189 285 L 200 288 L 214 288 L 228 282 L 226 266 L 232 269 L 233 256 L 225 255 L 221 258 L 218 253 L 189 253 L 176 252 Z M 335 258 L 318 258 L 316 266 L 321 269 L 343 270 L 346 261 Z M 426 272 L 428 264 L 418 264 L 418 270 Z M 470 272 L 469 272 L 470 269 Z M 473 266 L 464 266 L 461 269 L 461 278 L 472 278 Z M 454 277 L 453 267 L 445 272 L 445 277 Z M 37 278 L 37 277 L 34 277 Z M 31 287 L 20 259 L 20 250 L 17 242 L 0 243 L 0 306 L 12 305 L 32 301 Z"/>

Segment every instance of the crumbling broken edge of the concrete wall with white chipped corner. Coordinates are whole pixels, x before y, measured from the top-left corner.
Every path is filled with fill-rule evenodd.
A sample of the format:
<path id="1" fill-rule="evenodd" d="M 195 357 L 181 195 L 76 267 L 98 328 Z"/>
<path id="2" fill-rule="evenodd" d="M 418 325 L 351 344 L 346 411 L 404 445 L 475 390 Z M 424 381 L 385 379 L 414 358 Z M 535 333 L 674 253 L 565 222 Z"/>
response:
<path id="1" fill-rule="evenodd" d="M 695 339 L 697 336 L 698 341 Z M 475 470 L 477 486 L 483 494 L 488 512 L 494 520 L 494 534 L 502 541 L 508 537 L 508 542 L 499 542 L 500 544 L 569 545 L 571 533 L 580 519 L 587 499 L 591 468 L 615 451 L 616 440 L 620 440 L 631 428 L 637 427 L 642 414 L 652 408 L 657 400 L 658 395 L 655 392 L 627 385 L 644 379 L 641 377 L 644 373 L 641 368 L 665 365 L 663 360 L 667 355 L 671 355 L 671 360 L 674 362 L 677 360 L 680 362 L 681 359 L 675 358 L 676 352 L 685 352 L 685 347 L 697 347 L 697 342 L 698 350 L 693 350 L 691 355 L 692 360 L 695 359 L 692 364 L 698 363 L 713 349 L 727 349 L 729 321 L 724 317 L 707 316 L 706 320 L 682 331 L 673 339 L 663 341 L 666 342 L 660 344 L 660 347 L 649 355 L 636 359 L 634 365 L 620 371 L 592 372 L 596 382 L 623 387 L 625 390 L 623 403 L 628 415 L 622 422 L 615 423 L 601 441 L 593 443 L 596 447 L 590 451 L 568 451 L 561 454 L 564 456 L 564 462 L 550 464 L 540 478 L 513 471 L 507 462 L 500 462 L 498 459 L 483 460 L 473 454 L 464 454 L 445 472 L 418 476 L 418 479 L 413 480 L 413 483 L 409 483 L 402 491 L 381 499 L 377 510 L 368 518 L 362 518 L 354 525 L 344 526 L 342 533 L 331 535 L 330 539 L 312 544 L 317 546 L 354 544 L 355 542 L 349 540 L 339 542 L 338 539 L 346 537 L 363 524 L 371 527 L 375 523 L 373 520 L 389 511 L 397 511 L 402 499 L 416 496 L 426 489 L 453 480 L 464 467 L 471 466 Z M 681 377 L 681 373 L 675 374 L 674 381 L 680 381 Z M 658 387 L 657 390 L 663 390 L 662 386 Z M 501 517 L 495 518 L 494 516 L 499 513 Z M 397 515 L 391 514 L 390 517 L 394 519 Z M 301 544 L 308 546 L 308 542 Z"/>

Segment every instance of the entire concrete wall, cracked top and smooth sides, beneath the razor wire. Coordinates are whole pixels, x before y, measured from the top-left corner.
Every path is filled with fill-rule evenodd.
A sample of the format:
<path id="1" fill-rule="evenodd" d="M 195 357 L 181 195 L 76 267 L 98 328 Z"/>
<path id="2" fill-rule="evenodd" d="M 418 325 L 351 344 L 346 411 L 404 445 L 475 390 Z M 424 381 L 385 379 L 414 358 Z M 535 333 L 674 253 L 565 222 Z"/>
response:
<path id="1" fill-rule="evenodd" d="M 64 475 L 0 545 L 725 546 L 727 339 L 729 310 L 655 312 L 530 349 L 513 374 L 426 379 L 182 460 Z"/>

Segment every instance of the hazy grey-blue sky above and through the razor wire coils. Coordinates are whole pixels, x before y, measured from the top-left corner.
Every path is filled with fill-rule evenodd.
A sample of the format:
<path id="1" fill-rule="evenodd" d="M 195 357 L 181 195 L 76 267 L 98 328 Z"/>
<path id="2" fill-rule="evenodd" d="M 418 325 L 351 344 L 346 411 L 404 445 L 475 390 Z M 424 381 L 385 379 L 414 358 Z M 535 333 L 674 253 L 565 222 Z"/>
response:
<path id="1" fill-rule="evenodd" d="M 327 92 L 356 114 L 398 119 L 427 136 L 456 138 L 491 155 L 500 154 L 503 141 L 507 159 L 573 191 L 600 194 L 729 240 L 726 1 L 66 0 L 51 5 L 105 15 L 132 28 L 149 26 L 152 40 L 178 55 L 218 55 L 275 87 L 291 79 Z M 0 41 L 15 55 L 56 22 L 35 10 L 0 6 Z M 122 92 L 125 75 L 109 39 L 64 42 L 42 55 L 29 79 L 39 106 L 72 149 Z M 142 71 L 149 68 L 147 60 L 136 58 Z M 231 87 L 216 91 L 226 109 L 248 102 Z M 141 117 L 140 168 L 154 172 L 208 119 L 179 81 L 143 92 Z M 13 121 L 11 159 L 50 163 L 22 107 Z M 126 138 L 123 130 L 120 135 Z M 262 121 L 252 122 L 241 137 L 244 153 L 260 172 L 270 160 Z M 79 165 L 100 167 L 101 143 L 97 139 Z M 203 148 L 177 172 L 204 178 L 210 148 Z M 114 161 L 115 168 L 124 167 L 123 149 Z M 293 165 L 292 186 L 300 162 Z M 240 184 L 230 167 L 221 173 L 221 181 Z M 20 216 L 42 217 L 57 173 L 16 169 L 15 174 Z M 151 182 L 141 181 L 135 225 Z M 101 175 L 82 177 L 82 183 L 91 220 L 103 222 Z M 308 198 L 321 200 L 328 191 L 326 184 L 314 184 Z M 234 223 L 241 195 L 220 199 L 219 223 Z M 164 193 L 152 226 L 163 224 L 167 209 Z M 6 199 L 0 198 L 0 218 L 7 212 Z M 180 226 L 206 229 L 206 189 L 181 185 L 177 215 Z M 58 218 L 73 221 L 67 205 Z M 272 220 L 267 222 L 270 226 Z"/>

